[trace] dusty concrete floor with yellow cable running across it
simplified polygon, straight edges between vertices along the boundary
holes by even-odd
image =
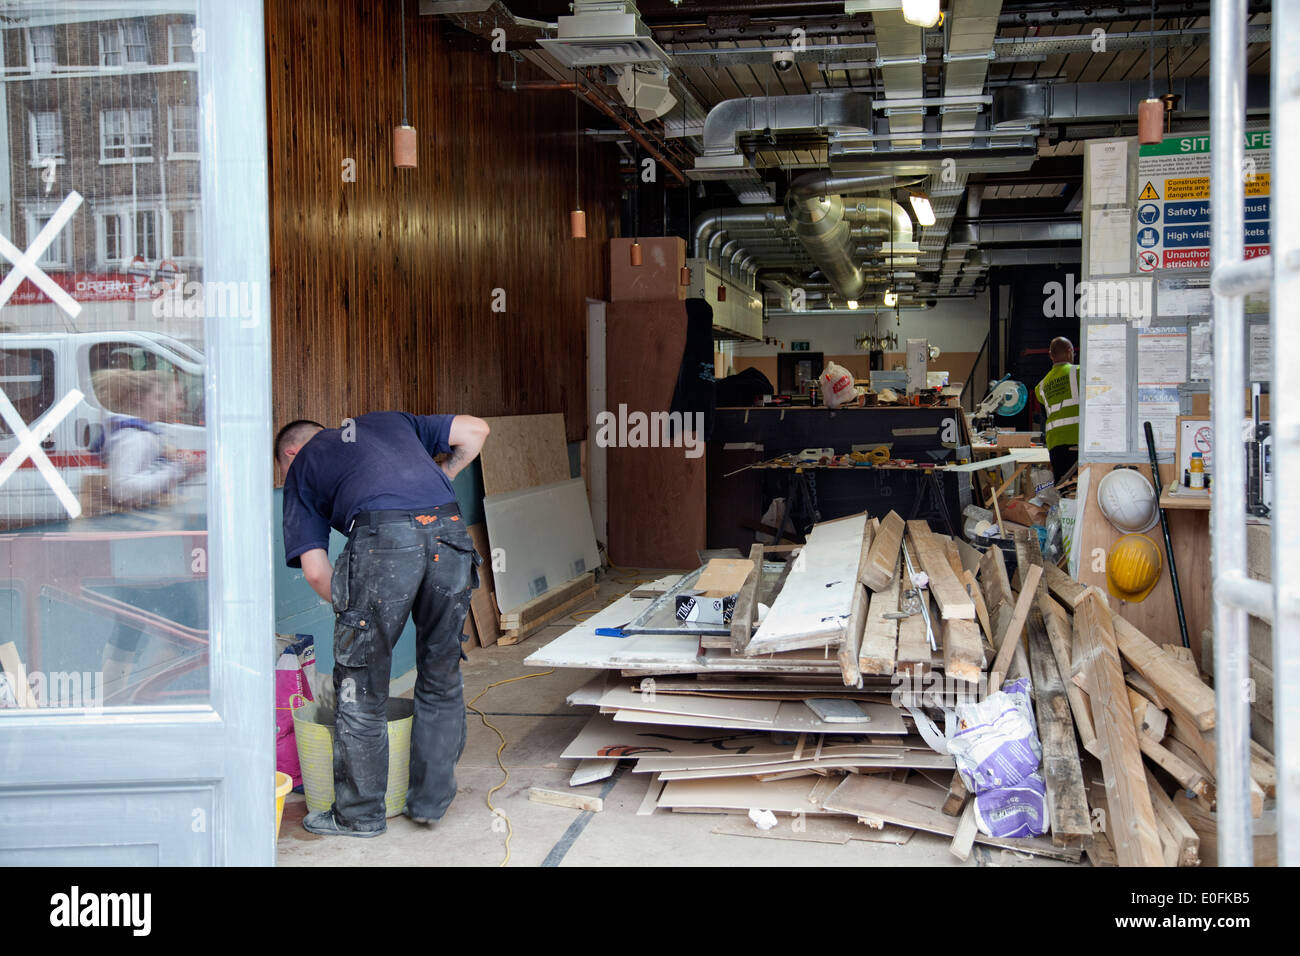
[[[629,584],[602,581],[589,607],[601,607],[630,589]],[[523,659],[554,640],[573,619],[534,633],[523,644],[476,648],[463,665],[465,700],[488,684],[533,672]],[[740,816],[673,813],[656,810],[638,817],[646,792],[646,775],[620,769],[608,780],[569,788],[576,761],[559,753],[577,735],[592,714],[590,708],[571,708],[566,696],[590,679],[593,671],[558,670],[546,676],[493,688],[478,701],[506,735],[502,761],[510,780],[493,795],[493,805],[510,817],[512,866],[961,866],[948,852],[946,838],[915,832],[902,845],[852,840],[837,845],[792,839],[789,818],[770,835],[759,835]],[[488,791],[502,782],[497,766],[500,741],[469,714],[469,739],[456,769],[459,792],[446,817],[436,826],[412,823],[406,817],[389,819],[389,830],[374,839],[328,838],[302,827],[307,804],[290,793],[280,831],[281,866],[497,866],[506,857],[506,834],[499,818],[485,803]],[[549,787],[604,797],[601,813],[584,813],[537,804],[529,787]],[[809,819],[809,838],[822,832],[823,821]],[[495,826],[494,826],[495,825]],[[714,832],[715,827],[741,834]],[[842,829],[842,827],[840,827]],[[866,827],[862,827],[866,830]],[[1069,866],[1036,857],[976,845],[968,866]],[[1086,865],[1086,864],[1084,864]]]

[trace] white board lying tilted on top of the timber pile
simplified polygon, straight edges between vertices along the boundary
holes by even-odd
[[[798,563],[754,632],[746,653],[775,650],[792,639],[829,643],[842,636],[853,602],[866,520],[866,515],[852,515],[812,528]]]

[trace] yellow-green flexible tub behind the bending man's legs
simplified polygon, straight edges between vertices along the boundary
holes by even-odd
[[[396,817],[406,806],[411,786],[411,724],[415,701],[389,697],[389,786],[384,795],[385,816]],[[303,770],[307,812],[334,805],[334,711],[312,702],[294,711],[294,737]]]

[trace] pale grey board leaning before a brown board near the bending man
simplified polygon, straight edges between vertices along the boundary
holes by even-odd
[[[488,538],[503,558],[497,604],[508,614],[601,563],[582,479],[484,498]]]

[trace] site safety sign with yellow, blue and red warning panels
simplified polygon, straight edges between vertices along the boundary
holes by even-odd
[[[1245,134],[1245,258],[1269,252],[1269,130]],[[1167,137],[1138,153],[1136,271],[1209,269],[1210,138]]]

